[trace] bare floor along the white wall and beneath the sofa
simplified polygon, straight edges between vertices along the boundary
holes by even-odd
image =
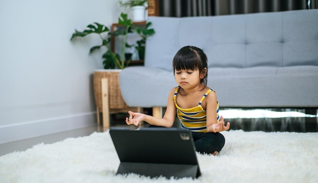
[[[231,130],[242,129],[244,131],[265,131],[265,132],[318,132],[317,109],[271,109],[249,110],[236,109],[223,110],[226,121],[231,122]],[[258,112],[258,113],[257,113]],[[246,115],[244,116],[244,114]],[[254,116],[254,114],[257,114]],[[283,115],[282,115],[283,114]],[[111,126],[126,127],[122,120],[125,114],[115,114],[111,116]],[[147,126],[147,124],[144,124]],[[177,120],[174,127],[178,126]],[[133,127],[132,127],[133,128]],[[28,138],[8,143],[0,144],[0,156],[14,151],[24,151],[39,143],[54,143],[66,138],[76,138],[88,136],[93,132],[105,132],[108,128],[101,125],[93,125],[86,128],[71,131],[59,132],[40,137]]]

